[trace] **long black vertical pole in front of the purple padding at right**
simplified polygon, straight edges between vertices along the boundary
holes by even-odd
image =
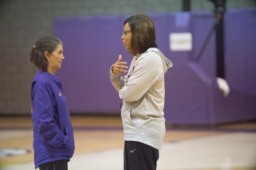
[[[224,60],[224,12],[226,0],[217,0],[215,3],[216,24],[216,73],[217,77],[225,79],[225,60]]]

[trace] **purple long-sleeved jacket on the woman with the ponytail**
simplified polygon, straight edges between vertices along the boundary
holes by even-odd
[[[70,114],[60,77],[39,70],[31,87],[34,163],[70,160],[75,150]]]

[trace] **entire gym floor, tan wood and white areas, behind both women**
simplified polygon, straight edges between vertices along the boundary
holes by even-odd
[[[123,169],[120,116],[71,116],[71,122],[75,154],[70,170]],[[33,170],[31,118],[0,117],[0,134],[0,169]],[[256,121],[167,125],[157,170],[256,170]]]

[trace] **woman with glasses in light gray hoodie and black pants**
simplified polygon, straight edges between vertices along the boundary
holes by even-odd
[[[123,100],[124,170],[156,170],[165,135],[164,73],[172,62],[157,49],[154,24],[144,14],[125,20],[122,41],[134,57],[126,71],[119,55],[110,80]]]

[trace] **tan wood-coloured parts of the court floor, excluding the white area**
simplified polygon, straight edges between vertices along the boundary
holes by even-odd
[[[122,120],[119,116],[71,116],[71,122],[73,124],[75,137],[74,156],[123,148]],[[237,130],[256,132],[256,121],[216,126],[167,125],[164,142],[200,138]],[[32,122],[29,116],[0,117],[0,134],[0,149],[23,148],[30,151],[28,154],[22,156],[0,157],[0,169],[8,165],[32,162],[34,160]],[[231,168],[229,170],[255,169],[256,167],[240,167]]]

